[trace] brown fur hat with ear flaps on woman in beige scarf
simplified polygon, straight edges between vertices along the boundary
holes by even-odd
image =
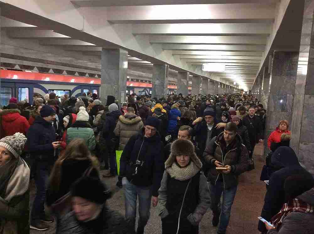
[[[176,162],[176,156],[178,155],[189,155],[190,160],[199,168],[202,168],[201,160],[196,156],[195,147],[190,140],[177,139],[171,144],[171,153],[167,161],[165,162],[165,167],[169,168]]]

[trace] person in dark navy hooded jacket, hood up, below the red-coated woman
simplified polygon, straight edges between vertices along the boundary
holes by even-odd
[[[264,199],[261,216],[269,221],[278,213],[285,202],[284,181],[293,174],[310,174],[304,169],[294,152],[287,146],[279,147],[272,155],[272,165],[278,170],[269,179],[269,186]],[[258,222],[258,230],[266,232],[265,224]]]

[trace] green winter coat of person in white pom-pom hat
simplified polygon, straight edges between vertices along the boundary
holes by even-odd
[[[67,130],[67,145],[75,138],[82,138],[89,149],[95,149],[95,134],[93,129],[89,127],[70,127]]]

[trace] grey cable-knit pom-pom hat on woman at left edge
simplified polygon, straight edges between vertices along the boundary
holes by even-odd
[[[13,136],[7,136],[0,140],[0,146],[10,151],[15,158],[19,158],[24,149],[27,138],[22,133],[15,133]]]

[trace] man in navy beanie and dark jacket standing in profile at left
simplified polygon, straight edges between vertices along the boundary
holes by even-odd
[[[46,200],[46,181],[50,169],[54,164],[54,152],[60,145],[56,140],[56,132],[52,126],[56,112],[52,107],[45,105],[40,110],[40,116],[35,119],[27,132],[27,145],[35,162],[36,196],[31,211],[30,228],[44,231],[49,228],[44,223],[51,223],[52,217],[45,214],[44,203]],[[44,223],[43,223],[44,222]]]

